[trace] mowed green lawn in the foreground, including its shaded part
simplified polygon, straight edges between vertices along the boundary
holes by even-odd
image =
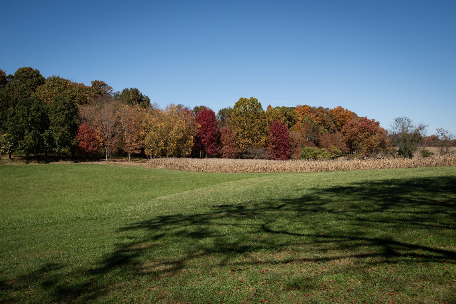
[[[456,303],[456,167],[0,167],[1,303]]]

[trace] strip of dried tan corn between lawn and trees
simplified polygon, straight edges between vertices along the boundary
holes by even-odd
[[[224,159],[224,158],[152,158],[149,167],[193,171],[193,172],[326,172],[369,169],[393,169],[416,167],[456,166],[456,156],[427,158],[386,158],[352,160],[260,160],[260,159]]]

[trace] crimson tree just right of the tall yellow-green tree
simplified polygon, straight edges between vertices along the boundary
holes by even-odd
[[[273,122],[269,127],[268,150],[272,159],[288,159],[290,157],[290,132],[280,122]]]

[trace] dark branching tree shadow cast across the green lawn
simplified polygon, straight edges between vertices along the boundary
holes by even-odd
[[[160,280],[198,263],[209,270],[347,259],[362,259],[371,266],[455,263],[455,248],[446,244],[455,236],[455,185],[455,177],[358,182],[313,188],[298,198],[213,205],[202,213],[157,216],[120,227],[116,233],[125,236],[124,242],[100,259],[98,267],[87,270],[79,283],[36,281],[55,301],[82,303],[115,292],[112,285],[122,279],[93,285],[105,276],[116,273],[120,278]],[[413,234],[416,231],[426,238],[412,242],[408,235],[419,237]],[[450,231],[447,239],[444,231]],[[433,237],[443,246],[435,246]],[[277,258],[276,253],[291,249],[299,254]],[[42,277],[46,269],[58,271],[60,267],[43,265],[17,281]],[[2,290],[24,288],[5,281],[0,285]],[[13,294],[6,294],[4,301],[17,301]]]

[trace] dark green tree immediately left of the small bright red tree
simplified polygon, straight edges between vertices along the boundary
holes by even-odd
[[[49,130],[57,160],[59,153],[71,152],[77,143],[78,116],[78,105],[73,100],[64,96],[54,97],[49,108]]]

